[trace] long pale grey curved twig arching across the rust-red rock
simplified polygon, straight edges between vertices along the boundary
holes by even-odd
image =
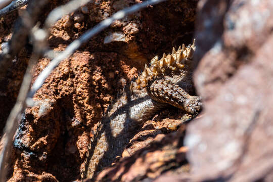
[[[36,91],[41,87],[44,80],[49,76],[49,74],[53,71],[55,67],[59,65],[59,63],[68,58],[72,53],[74,53],[82,43],[86,42],[88,39],[98,34],[108,26],[110,26],[115,20],[119,20],[124,18],[126,15],[132,14],[136,11],[139,11],[142,8],[145,8],[148,5],[158,4],[166,0],[148,0],[141,4],[136,4],[131,7],[125,8],[123,10],[118,11],[112,17],[103,20],[101,23],[96,25],[93,29],[87,30],[83,35],[81,35],[78,39],[74,40],[72,43],[68,45],[68,47],[60,53],[56,58],[54,58],[47,67],[45,67],[42,72],[38,75],[37,79],[32,85],[31,92],[28,97],[32,98]]]

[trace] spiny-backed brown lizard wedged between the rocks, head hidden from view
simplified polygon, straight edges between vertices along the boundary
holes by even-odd
[[[193,96],[195,50],[194,39],[192,45],[183,44],[177,51],[173,48],[171,54],[164,53],[160,60],[155,56],[150,66],[145,64],[144,71],[124,86],[122,94],[97,124],[80,172],[81,181],[94,178],[97,171],[113,163],[145,121],[166,106],[191,114],[201,111],[201,98]]]

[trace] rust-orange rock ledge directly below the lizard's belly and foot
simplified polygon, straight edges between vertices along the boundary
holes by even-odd
[[[146,122],[129,144],[135,153],[130,156],[128,149],[125,150],[123,158],[103,170],[95,181],[149,181],[170,169],[188,173],[187,147],[183,146],[186,125],[166,135],[173,131],[173,126],[179,125],[181,120],[173,119],[164,119],[160,125],[155,121]]]

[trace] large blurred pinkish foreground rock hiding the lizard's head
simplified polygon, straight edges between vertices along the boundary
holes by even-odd
[[[195,83],[205,111],[185,140],[193,178],[272,181],[273,2],[198,7]]]

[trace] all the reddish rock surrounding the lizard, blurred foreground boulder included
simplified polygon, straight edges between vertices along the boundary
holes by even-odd
[[[40,11],[40,24],[67,2],[50,1]],[[54,25],[49,46],[63,51],[87,29],[141,2],[93,1]],[[27,8],[0,18],[1,48]],[[175,108],[158,113],[96,180],[273,181],[272,12],[270,0],[169,0],[115,21],[64,60],[38,90],[14,138],[7,180],[79,181],[93,128],[123,85],[155,55],[195,37],[194,81],[202,113],[189,124],[182,122],[189,116]],[[31,52],[27,41],[0,79],[1,131]],[[38,61],[34,80],[49,62]]]

